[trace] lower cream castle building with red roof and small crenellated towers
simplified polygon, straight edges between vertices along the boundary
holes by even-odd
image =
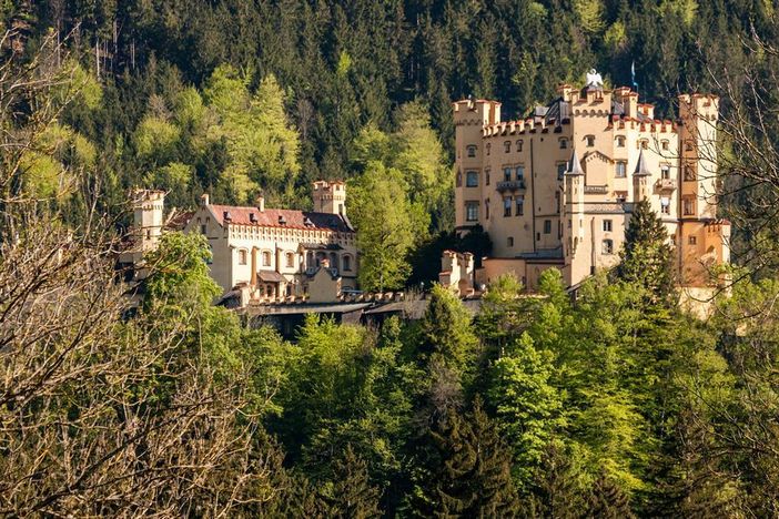
[[[244,288],[250,299],[266,302],[303,296],[334,301],[356,288],[356,233],[346,217],[343,182],[314,182],[313,212],[267,208],[262,195],[253,206],[217,205],[204,194],[196,211],[164,218],[164,195],[152,190],[132,193],[132,245],[120,263],[132,265],[139,278],[143,254],[156,247],[169,228],[208,238],[210,273],[225,293]]]

